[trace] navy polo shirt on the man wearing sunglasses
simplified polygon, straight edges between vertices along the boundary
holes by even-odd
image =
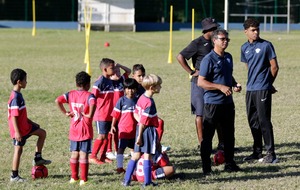
[[[225,52],[221,57],[215,51],[207,54],[201,63],[199,75],[207,81],[232,87],[233,61],[231,54]],[[204,103],[206,104],[229,104],[232,96],[226,96],[220,90],[205,90]]]

